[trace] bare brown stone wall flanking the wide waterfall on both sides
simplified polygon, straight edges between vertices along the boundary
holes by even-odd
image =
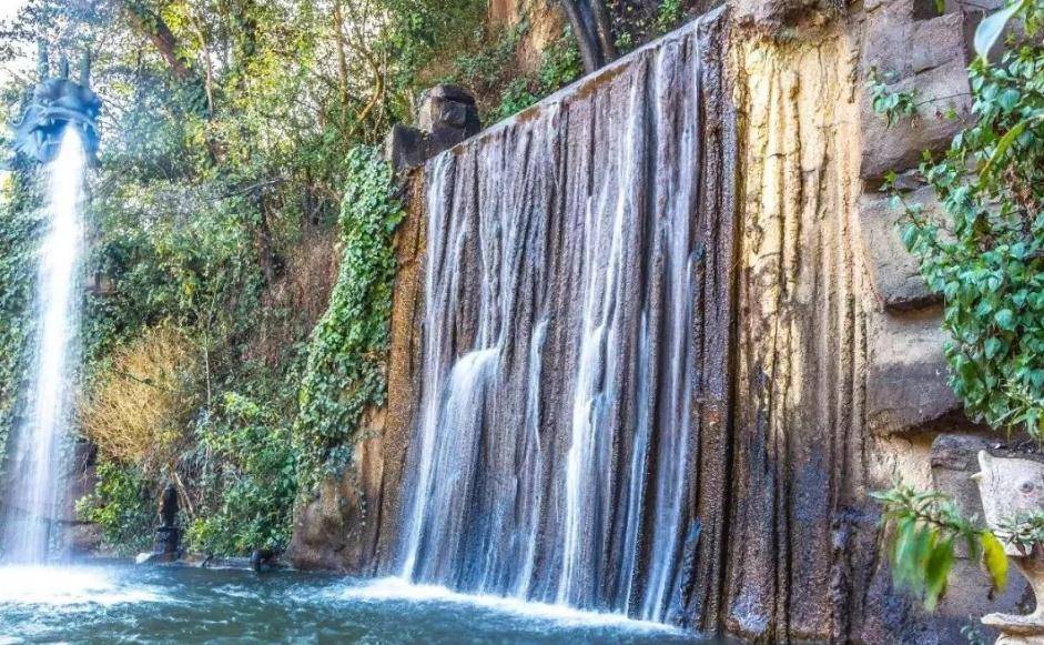
[[[1024,588],[1013,582],[991,602],[976,563],[964,558],[937,615],[923,615],[891,588],[879,512],[868,498],[901,477],[953,494],[970,513],[979,504],[966,477],[985,440],[946,384],[940,304],[879,190],[884,172],[910,170],[922,150],[945,148],[970,118],[964,65],[979,16],[960,4],[937,16],[932,7],[732,7],[723,56],[740,115],[738,342],[730,484],[716,501],[728,516],[714,521],[729,546],[720,588],[702,593],[720,595],[719,624],[748,638],[951,643],[970,615],[1011,609]],[[915,90],[914,119],[889,128],[873,113],[864,89],[871,69],[894,90]],[[911,199],[937,210],[929,189],[902,181]],[[412,190],[397,242],[389,407],[375,414],[355,478],[328,484],[301,515],[301,564],[375,573],[391,561],[418,391],[424,204],[416,177]]]

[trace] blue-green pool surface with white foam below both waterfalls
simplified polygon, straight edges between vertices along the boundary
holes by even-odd
[[[397,578],[105,564],[0,567],[0,643],[696,643],[691,634]]]

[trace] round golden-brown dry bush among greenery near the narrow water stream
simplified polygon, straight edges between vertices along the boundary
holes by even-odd
[[[145,467],[170,464],[195,406],[200,359],[181,332],[158,326],[113,352],[80,405],[80,427],[108,456]]]

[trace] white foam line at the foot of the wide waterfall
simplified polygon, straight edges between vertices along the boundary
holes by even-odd
[[[636,621],[624,614],[587,612],[567,605],[531,603],[515,597],[494,595],[470,595],[450,591],[439,585],[410,584],[401,577],[386,577],[353,584],[348,587],[331,589],[330,599],[356,602],[406,601],[414,603],[449,603],[483,607],[526,618],[549,621],[566,626],[614,627],[627,631],[658,632],[662,634],[686,634],[682,629],[652,623]]]

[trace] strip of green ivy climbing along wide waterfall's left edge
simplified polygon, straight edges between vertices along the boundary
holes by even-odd
[[[392,240],[403,215],[392,168],[375,148],[354,149],[341,204],[339,274],[307,347],[294,423],[306,488],[348,465],[363,413],[385,402],[397,268]]]

